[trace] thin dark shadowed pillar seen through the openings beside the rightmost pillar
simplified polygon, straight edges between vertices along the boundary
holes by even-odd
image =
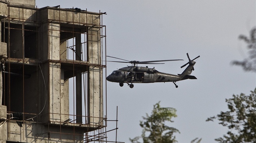
[[[76,60],[81,61],[81,34],[76,34]],[[82,123],[82,73],[76,71],[76,122]]]

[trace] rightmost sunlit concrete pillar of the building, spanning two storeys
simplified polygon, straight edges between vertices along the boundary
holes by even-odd
[[[103,118],[100,28],[88,28],[87,48],[87,61],[94,64],[89,66],[88,71],[89,124],[95,127],[102,125]]]

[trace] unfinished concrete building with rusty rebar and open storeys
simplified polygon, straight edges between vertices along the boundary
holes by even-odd
[[[102,14],[0,0],[1,143],[104,138]],[[95,130],[98,135],[88,135]]]

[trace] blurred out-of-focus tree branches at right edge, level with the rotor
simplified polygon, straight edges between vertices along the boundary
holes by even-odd
[[[240,35],[239,39],[247,43],[249,56],[243,61],[233,61],[232,64],[242,66],[245,71],[256,72],[256,28],[252,28],[250,37]]]

